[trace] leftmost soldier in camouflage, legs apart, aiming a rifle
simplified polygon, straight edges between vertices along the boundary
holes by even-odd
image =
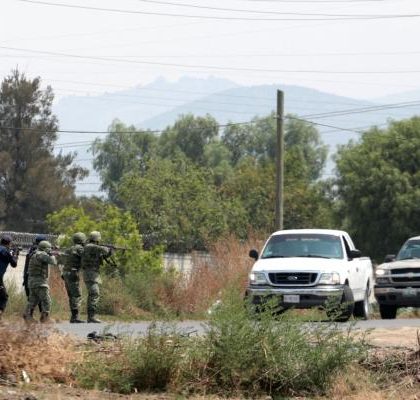
[[[39,243],[29,261],[28,286],[29,300],[23,318],[25,321],[34,321],[35,307],[41,304],[41,322],[49,322],[51,309],[50,288],[48,286],[49,265],[57,265],[57,260],[51,255],[51,243],[43,240]]]

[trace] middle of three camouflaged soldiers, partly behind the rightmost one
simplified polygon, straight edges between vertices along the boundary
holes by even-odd
[[[62,276],[66,286],[67,295],[69,296],[69,304],[71,323],[85,322],[79,319],[80,303],[82,294],[80,292],[79,271],[82,266],[82,254],[86,243],[86,235],[77,232],[73,235],[73,246],[66,250],[64,254],[64,268]]]

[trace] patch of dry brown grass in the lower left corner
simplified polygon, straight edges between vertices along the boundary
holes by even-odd
[[[72,363],[78,360],[75,343],[44,325],[0,325],[0,378],[71,382]]]

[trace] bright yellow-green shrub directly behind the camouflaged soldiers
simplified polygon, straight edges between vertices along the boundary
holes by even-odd
[[[92,204],[90,204],[92,210]],[[143,250],[143,241],[137,224],[129,212],[100,201],[94,213],[88,213],[80,205],[67,206],[48,215],[48,226],[52,232],[62,235],[60,245],[71,244],[75,232],[100,231],[103,243],[109,243],[129,250],[117,251],[113,256],[121,276],[131,272],[160,273],[163,268],[162,249],[151,252]],[[106,264],[105,272],[114,274],[115,268]]]

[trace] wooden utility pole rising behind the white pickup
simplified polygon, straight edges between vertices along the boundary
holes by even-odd
[[[276,229],[283,229],[284,188],[284,93],[277,90],[277,146],[276,146]]]

